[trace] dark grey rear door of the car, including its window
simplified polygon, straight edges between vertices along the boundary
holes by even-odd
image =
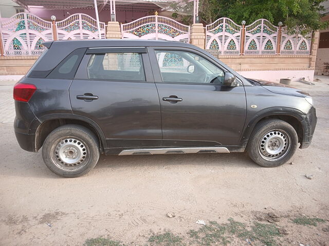
[[[160,146],[160,105],[147,49],[88,49],[69,94],[73,113],[94,120],[108,148]]]

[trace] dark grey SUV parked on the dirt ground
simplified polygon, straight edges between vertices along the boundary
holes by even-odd
[[[81,176],[100,154],[246,151],[258,165],[278,167],[312,140],[312,97],[244,78],[195,46],[105,39],[43,45],[14,86],[14,130],[24,150],[42,147],[58,175]]]

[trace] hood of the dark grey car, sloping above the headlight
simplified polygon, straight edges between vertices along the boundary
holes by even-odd
[[[287,86],[284,84],[265,81],[262,79],[252,79],[252,80],[257,81],[259,84],[261,84],[262,87],[273,93],[291,95],[291,96],[300,96],[300,97],[305,97],[309,95],[307,92],[301,91],[295,87]]]

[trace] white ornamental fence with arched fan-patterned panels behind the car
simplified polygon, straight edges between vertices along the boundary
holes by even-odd
[[[274,26],[266,19],[240,26],[223,17],[207,25],[205,31],[205,48],[215,56],[309,55],[312,44],[311,33],[306,36],[289,35],[286,28]],[[101,38],[105,38],[105,33],[105,23],[100,22]],[[15,14],[0,22],[0,34],[0,51],[5,56],[40,55],[45,49],[42,43],[53,40],[53,37],[59,40],[99,38],[96,19],[82,13],[70,15],[57,23],[29,13]],[[158,15],[121,25],[121,38],[166,39],[190,43],[190,36],[190,26]]]

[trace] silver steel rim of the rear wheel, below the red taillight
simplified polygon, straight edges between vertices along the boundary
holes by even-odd
[[[66,172],[75,172],[87,165],[90,150],[82,139],[65,136],[52,144],[50,157],[57,168]]]

